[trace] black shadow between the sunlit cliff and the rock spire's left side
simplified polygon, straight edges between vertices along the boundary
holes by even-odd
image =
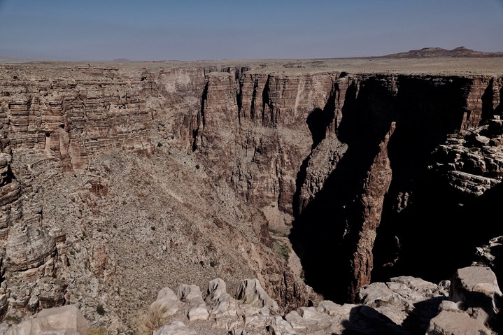
[[[290,240],[301,258],[306,283],[326,299],[337,302],[344,302],[348,297],[350,256],[355,252],[358,226],[363,223],[359,196],[365,176],[391,123],[392,113],[372,113],[373,108],[381,108],[387,101],[369,105],[369,99],[385,94],[381,91],[385,88],[380,90],[378,83],[360,88],[360,94],[356,85],[348,87],[343,117],[337,128],[339,138],[348,143],[348,150],[316,197],[302,211],[295,212],[292,224]],[[313,141],[315,138],[318,136],[313,134]],[[294,208],[301,206],[299,192],[306,178],[308,160],[309,157],[297,176]]]

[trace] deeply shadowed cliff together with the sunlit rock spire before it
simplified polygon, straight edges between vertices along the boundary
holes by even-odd
[[[446,261],[458,264],[457,254],[473,252],[474,242],[465,249],[444,241],[465,200],[449,193],[451,186],[440,188],[428,170],[437,164],[430,153],[448,134],[479,124],[486,108],[491,117],[498,113],[502,87],[492,77],[351,77],[335,112],[335,136],[302,166],[291,235],[308,282],[338,301],[355,299],[371,279],[404,271],[432,276],[434,269],[432,279],[441,280],[452,271]],[[332,267],[320,255],[336,255]]]

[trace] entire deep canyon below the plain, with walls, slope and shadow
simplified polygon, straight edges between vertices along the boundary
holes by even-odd
[[[502,69],[0,64],[2,318],[76,304],[122,334],[180,283],[257,278],[294,311],[451,278],[503,235]]]

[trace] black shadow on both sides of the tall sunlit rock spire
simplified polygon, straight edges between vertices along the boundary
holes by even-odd
[[[299,192],[310,157],[302,164],[290,241],[306,283],[325,299],[344,303],[350,298],[351,259],[364,223],[364,185],[393,121],[396,129],[388,143],[392,181],[383,199],[372,280],[398,275],[434,282],[450,279],[455,269],[469,265],[476,245],[500,230],[490,223],[489,204],[500,197],[501,187],[480,199],[467,199],[452,190],[444,176],[428,169],[434,164],[432,150],[460,129],[466,111],[462,92],[469,81],[448,79],[399,76],[396,90],[385,76],[353,83],[334,129],[348,150],[305,208],[300,208]],[[309,126],[313,143],[320,138],[313,129],[325,127],[323,122]]]

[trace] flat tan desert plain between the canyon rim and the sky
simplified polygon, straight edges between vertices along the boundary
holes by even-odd
[[[10,61],[10,63],[13,63]],[[16,62],[19,64],[19,62]],[[50,64],[51,66],[103,66],[120,68],[170,68],[179,66],[204,66],[211,70],[243,66],[254,72],[313,73],[325,71],[345,71],[348,73],[399,73],[399,74],[447,74],[463,76],[482,74],[499,76],[503,74],[503,57],[427,57],[427,58],[334,58],[334,59],[224,59],[201,60],[197,62],[29,62],[29,64]],[[0,64],[9,64],[0,59]]]

